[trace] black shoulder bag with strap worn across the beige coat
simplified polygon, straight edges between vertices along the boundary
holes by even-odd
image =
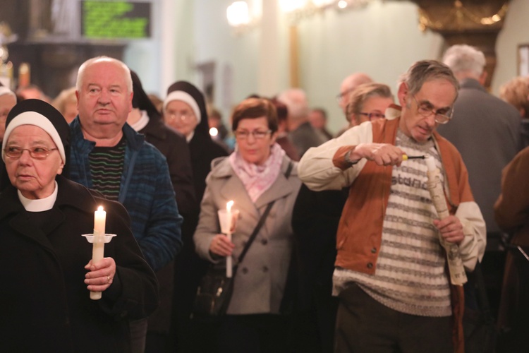
[[[288,179],[292,172],[292,162],[288,164],[286,169],[285,177]],[[275,201],[272,201],[267,205],[265,212],[262,213],[259,222],[253,229],[250,239],[246,243],[241,256],[238,257],[237,264],[233,266],[233,274],[231,277],[226,277],[225,268],[216,268],[213,264],[207,269],[207,273],[200,280],[200,285],[197,289],[197,295],[195,296],[195,302],[193,303],[193,316],[221,316],[226,313],[231,300],[231,294],[233,294],[233,284],[237,273],[238,264],[243,262],[250,245],[253,243],[257,233],[259,233],[262,225],[265,224],[265,220],[270,213],[270,209],[274,205]]]

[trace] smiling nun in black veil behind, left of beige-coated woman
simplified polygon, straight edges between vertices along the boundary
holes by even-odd
[[[209,135],[207,110],[204,95],[195,85],[178,81],[169,86],[164,100],[163,115],[165,124],[176,129],[186,138],[193,168],[193,186],[198,203],[206,189],[206,177],[211,163],[217,157],[228,152]],[[186,234],[195,232],[198,222],[198,210],[188,217]],[[190,227],[188,229],[188,227]],[[202,344],[207,344],[202,336],[211,328],[205,323],[190,321],[193,300],[200,278],[207,269],[207,261],[195,253],[195,244],[188,239],[176,261],[174,284],[177,289],[173,296],[173,328],[171,335],[176,342],[177,352],[204,352]]]

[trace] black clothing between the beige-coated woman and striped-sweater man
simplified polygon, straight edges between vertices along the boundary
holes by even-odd
[[[348,191],[311,191],[303,184],[294,204],[295,258],[288,286],[293,304],[290,334],[298,352],[333,352],[338,299],[332,297],[332,273]]]

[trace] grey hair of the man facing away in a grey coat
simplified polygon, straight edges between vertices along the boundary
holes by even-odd
[[[443,62],[454,73],[466,72],[479,77],[485,68],[485,54],[476,47],[466,44],[456,44],[449,47],[443,56]]]

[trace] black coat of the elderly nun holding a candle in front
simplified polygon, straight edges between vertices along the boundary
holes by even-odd
[[[57,177],[54,207],[28,213],[13,187],[0,194],[0,347],[4,352],[130,352],[129,319],[158,305],[154,273],[119,203]],[[116,261],[112,285],[99,301],[84,283],[98,205],[107,211],[105,256]]]

